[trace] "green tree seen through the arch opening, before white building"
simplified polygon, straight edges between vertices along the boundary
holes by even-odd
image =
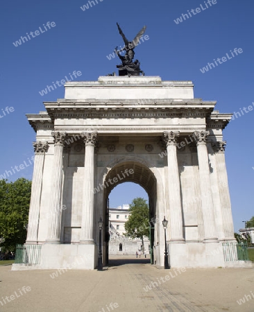
[[[126,236],[141,239],[144,249],[144,236],[149,237],[149,206],[144,198],[134,198],[130,204],[130,216],[125,223]]]

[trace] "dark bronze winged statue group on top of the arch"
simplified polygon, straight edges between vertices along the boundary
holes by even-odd
[[[142,76],[144,76],[144,71],[140,70],[139,68],[139,61],[135,60],[133,62],[133,58],[135,55],[134,49],[139,44],[139,39],[142,37],[144,32],[146,31],[146,26],[142,28],[139,33],[137,33],[136,37],[133,39],[133,41],[128,41],[126,36],[124,35],[123,31],[121,30],[119,24],[117,23],[117,27],[119,30],[119,34],[124,40],[124,48],[121,50],[117,50],[117,47],[115,48],[115,53],[120,58],[122,64],[117,65],[117,68],[119,68],[119,76],[139,76],[140,73],[142,73]],[[126,51],[126,54],[124,56],[120,55],[119,53],[121,51]]]

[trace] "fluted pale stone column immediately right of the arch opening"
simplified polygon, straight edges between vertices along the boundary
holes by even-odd
[[[180,132],[163,132],[167,144],[168,193],[171,242],[183,243],[183,216],[180,198],[180,179],[176,155],[176,138]]]

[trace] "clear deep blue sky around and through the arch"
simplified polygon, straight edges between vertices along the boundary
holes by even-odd
[[[130,40],[142,26],[147,26],[149,40],[135,49],[135,58],[146,76],[192,80],[195,97],[216,100],[220,112],[238,112],[254,102],[254,1],[218,0],[209,8],[203,0],[97,2],[91,7],[87,0],[1,1],[0,175],[24,161],[29,164],[28,159],[33,156],[35,132],[25,114],[44,110],[43,101],[64,97],[64,87],[44,96],[39,91],[69,77],[74,70],[82,72],[77,80],[97,80],[116,71],[119,60],[108,60],[106,56],[123,44],[117,21]],[[89,8],[81,10],[87,3]],[[205,10],[201,10],[201,4]],[[174,19],[196,8],[200,12],[195,11],[196,15],[176,24]],[[48,21],[56,26],[44,31],[43,24]],[[40,33],[40,28],[44,33]],[[35,31],[39,35],[35,36]],[[17,47],[12,44],[31,32],[35,37],[31,35],[28,42],[24,39]],[[243,53],[201,73],[208,62],[235,48],[241,48]],[[13,107],[14,111],[4,116],[2,110],[6,107]],[[235,230],[242,227],[242,220],[254,215],[253,119],[254,110],[230,122],[224,130]],[[30,165],[9,180],[31,179],[32,173]],[[124,196],[126,193],[128,196]],[[136,193],[138,196],[139,191]],[[136,196],[133,191],[119,186],[115,199],[111,199],[112,206],[131,202],[133,195]]]

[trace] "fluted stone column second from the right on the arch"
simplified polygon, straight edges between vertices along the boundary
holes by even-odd
[[[203,211],[203,225],[205,232],[205,243],[217,241],[217,231],[214,220],[214,205],[212,201],[212,189],[210,182],[210,168],[208,164],[208,148],[206,139],[208,131],[196,131],[194,137],[198,150],[198,170],[201,184],[201,202]]]

